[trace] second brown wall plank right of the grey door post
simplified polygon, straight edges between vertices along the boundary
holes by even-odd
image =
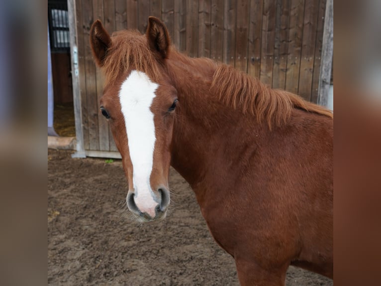
[[[96,70],[90,47],[90,27],[94,22],[93,1],[83,0],[84,42],[85,42],[85,70],[86,70],[86,96],[88,106],[89,149],[99,150],[98,133],[98,105],[96,96]]]

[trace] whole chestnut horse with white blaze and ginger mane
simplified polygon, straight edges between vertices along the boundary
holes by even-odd
[[[148,20],[145,35],[110,37],[99,20],[90,31],[129,210],[165,218],[172,165],[241,285],[285,285],[289,265],[333,278],[332,113],[179,53],[166,26]]]

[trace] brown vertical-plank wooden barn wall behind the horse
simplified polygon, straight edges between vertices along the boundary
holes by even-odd
[[[90,27],[147,28],[161,18],[172,42],[191,57],[209,57],[317,101],[326,0],[76,0],[84,147],[117,151],[99,113],[102,75],[93,62]]]

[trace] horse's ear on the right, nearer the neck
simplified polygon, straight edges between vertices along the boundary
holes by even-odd
[[[164,23],[156,17],[148,17],[146,36],[151,50],[158,52],[165,59],[168,55],[171,41]]]

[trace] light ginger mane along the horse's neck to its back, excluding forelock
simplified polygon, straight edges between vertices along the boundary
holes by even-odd
[[[271,128],[280,126],[291,117],[294,108],[333,118],[331,111],[307,102],[301,97],[279,89],[272,89],[258,79],[221,64],[214,72],[211,92],[234,109],[256,116],[259,122],[267,121]]]

